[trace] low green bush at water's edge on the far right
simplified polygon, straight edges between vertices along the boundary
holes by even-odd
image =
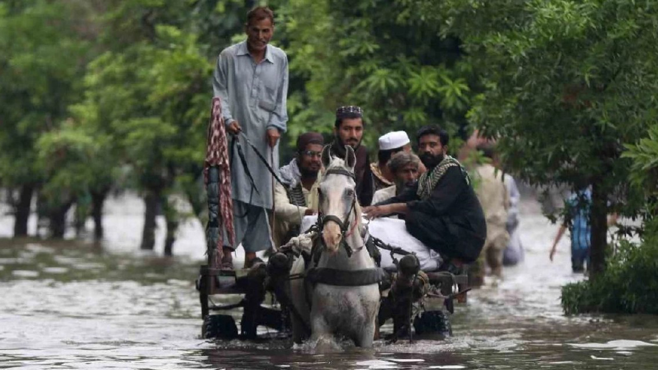
[[[641,244],[620,242],[603,274],[563,286],[562,307],[567,315],[658,314],[658,234]]]

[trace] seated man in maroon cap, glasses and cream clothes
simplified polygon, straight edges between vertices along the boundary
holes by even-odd
[[[322,167],[323,145],[322,135],[316,132],[302,134],[297,138],[295,158],[279,170],[286,186],[278,183],[274,186],[272,237],[277,246],[299,234],[301,219],[305,215],[317,212],[318,172]]]

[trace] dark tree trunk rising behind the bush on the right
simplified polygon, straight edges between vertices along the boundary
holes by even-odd
[[[601,186],[601,181],[592,184],[592,225],[590,245],[590,276],[596,277],[605,270],[605,253],[607,251],[607,194]]]

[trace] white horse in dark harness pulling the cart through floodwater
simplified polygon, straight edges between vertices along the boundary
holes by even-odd
[[[343,336],[357,346],[370,347],[374,340],[380,304],[375,276],[381,274],[365,248],[361,207],[355,192],[356,157],[351,147],[346,149],[345,159],[330,157],[328,147],[322,151],[324,174],[318,214],[321,236],[315,238],[319,245],[314,248],[320,253],[317,265],[316,255],[307,266],[298,258],[290,271],[300,274],[306,268],[307,276],[290,281],[295,342],[309,334],[316,343]]]

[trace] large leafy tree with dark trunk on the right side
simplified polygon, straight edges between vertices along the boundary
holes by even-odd
[[[531,184],[592,186],[592,273],[605,267],[606,215],[635,215],[622,144],[655,120],[658,4],[653,1],[419,1],[464,41],[484,91],[470,120],[497,138]],[[440,11],[430,9],[440,7]],[[637,201],[640,199],[640,201]]]

